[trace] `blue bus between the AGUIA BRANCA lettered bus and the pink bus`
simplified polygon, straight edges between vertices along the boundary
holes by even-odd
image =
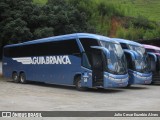
[[[152,72],[149,56],[153,58],[155,56],[147,54],[143,45],[137,42],[119,38],[113,38],[113,40],[121,44],[126,55],[129,74],[128,87],[131,84],[150,84],[152,82]]]

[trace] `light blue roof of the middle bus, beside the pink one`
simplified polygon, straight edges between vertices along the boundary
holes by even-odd
[[[129,45],[135,45],[135,46],[143,47],[143,45],[141,45],[140,43],[134,42],[134,41],[131,41],[131,40],[125,40],[125,39],[121,39],[121,38],[112,38],[112,39],[119,42],[119,43],[126,43],[126,44],[129,44]]]

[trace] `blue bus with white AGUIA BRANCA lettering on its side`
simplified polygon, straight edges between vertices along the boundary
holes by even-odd
[[[75,85],[78,90],[128,84],[120,44],[101,35],[61,35],[7,45],[3,51],[3,76],[15,82]]]

